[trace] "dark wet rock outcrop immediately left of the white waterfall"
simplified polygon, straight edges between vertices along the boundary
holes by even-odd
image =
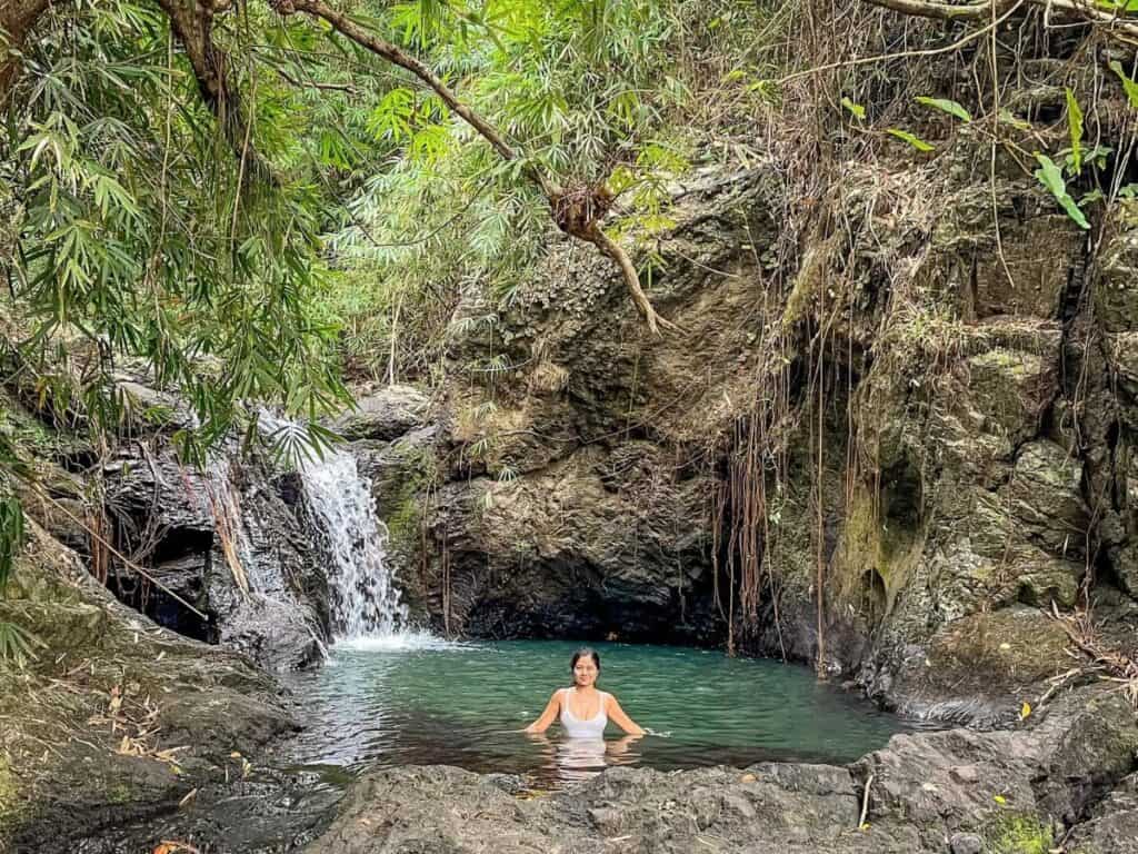
[[[206,473],[157,450],[125,449],[102,470],[118,550],[174,596],[109,557],[109,586],[158,623],[223,643],[269,668],[320,656],[328,637],[328,581],[296,475],[273,474],[236,452]]]

